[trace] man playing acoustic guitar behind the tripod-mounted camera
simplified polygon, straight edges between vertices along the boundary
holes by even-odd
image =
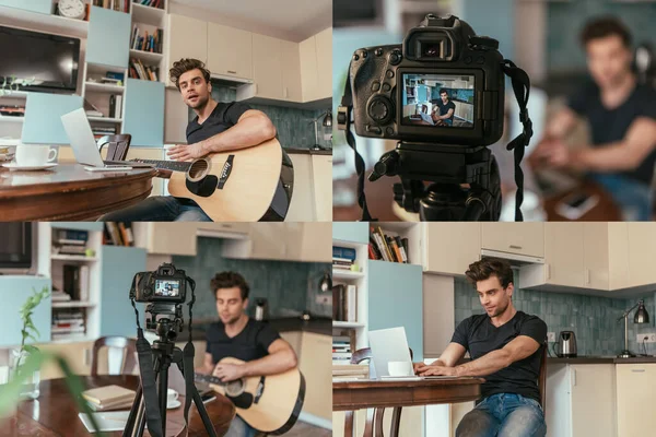
[[[249,287],[241,274],[218,273],[211,286],[221,320],[208,330],[204,363],[196,369],[196,379],[209,381],[235,404],[237,415],[227,437],[288,430],[298,416],[305,392],[296,354],[268,323],[246,315]],[[239,387],[230,383],[239,380],[247,393],[237,395]]]

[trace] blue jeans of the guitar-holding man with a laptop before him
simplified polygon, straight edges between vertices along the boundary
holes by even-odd
[[[211,222],[194,202],[181,201],[173,196],[153,196],[136,205],[114,211],[98,218],[99,222]]]

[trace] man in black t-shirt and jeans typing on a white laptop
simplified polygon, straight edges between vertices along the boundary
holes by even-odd
[[[414,370],[421,376],[484,377],[481,400],[462,417],[456,437],[543,437],[537,381],[547,324],[515,309],[513,270],[506,261],[483,259],[465,274],[485,314],[462,320],[440,358],[431,365],[415,363]],[[471,361],[456,365],[465,352]]]

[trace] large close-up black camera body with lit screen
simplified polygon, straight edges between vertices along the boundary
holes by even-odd
[[[402,45],[356,50],[350,67],[355,132],[408,143],[493,144],[504,115],[497,48],[457,16],[429,14]],[[338,122],[345,125],[341,113]]]

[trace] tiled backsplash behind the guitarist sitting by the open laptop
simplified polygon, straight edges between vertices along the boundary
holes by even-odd
[[[234,102],[237,98],[237,92],[227,86],[212,86],[212,97],[216,102]],[[278,139],[283,147],[311,149],[315,144],[315,130],[312,120],[324,114],[326,109],[306,110],[288,108],[281,106],[248,104],[253,109],[265,113],[278,130]],[[196,114],[189,109],[189,120],[194,119]],[[324,133],[330,133],[332,128],[321,126],[321,117],[318,121],[319,145],[323,147],[332,147],[330,140],[324,140]]]

